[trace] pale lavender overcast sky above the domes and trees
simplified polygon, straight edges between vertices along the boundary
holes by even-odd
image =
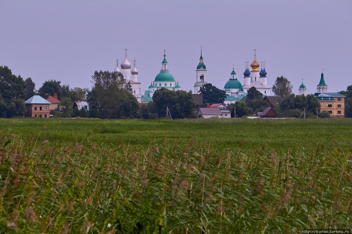
[[[127,48],[144,94],[166,49],[170,73],[193,91],[201,45],[207,82],[218,88],[232,64],[243,84],[257,49],[269,86],[283,75],[298,94],[303,78],[314,93],[323,68],[328,92],[338,92],[352,85],[351,10],[351,0],[1,0],[0,65],[37,89],[50,79],[91,88],[94,71],[114,71]]]

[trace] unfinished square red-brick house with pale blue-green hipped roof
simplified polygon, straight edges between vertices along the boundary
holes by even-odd
[[[27,108],[25,117],[49,118],[49,105],[51,103],[46,101],[41,96],[34,95],[24,103]]]

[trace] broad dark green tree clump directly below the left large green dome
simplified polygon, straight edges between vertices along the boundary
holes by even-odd
[[[165,116],[166,107],[168,107],[173,119],[191,118],[196,105],[192,93],[183,90],[175,92],[166,88],[157,89],[154,92],[153,102],[159,117]]]

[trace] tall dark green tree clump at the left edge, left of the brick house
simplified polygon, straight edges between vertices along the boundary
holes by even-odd
[[[7,66],[0,66],[0,118],[24,115],[25,87],[20,75],[13,75]]]

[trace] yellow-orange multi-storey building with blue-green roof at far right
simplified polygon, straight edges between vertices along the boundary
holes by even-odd
[[[345,96],[339,93],[320,93],[316,95],[321,111],[326,110],[331,117],[345,117]]]

